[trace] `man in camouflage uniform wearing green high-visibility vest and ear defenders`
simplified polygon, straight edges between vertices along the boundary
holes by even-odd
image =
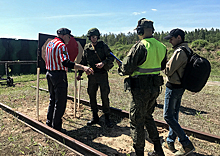
[[[153,22],[142,18],[138,21],[138,41],[124,58],[119,61],[119,75],[129,75],[125,79],[125,90],[131,90],[130,131],[137,156],[144,156],[145,129],[154,144],[154,151],[148,155],[164,156],[159,133],[152,113],[159,96],[163,77],[160,71],[166,66],[166,47],[153,38]]]

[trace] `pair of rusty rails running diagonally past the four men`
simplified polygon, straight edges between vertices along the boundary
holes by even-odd
[[[34,86],[32,86],[32,87],[36,88]],[[43,89],[43,88],[40,88],[39,90],[48,92],[48,90]],[[68,99],[74,100],[74,97],[68,96]],[[87,100],[81,99],[80,103],[82,103],[83,105],[89,106],[89,101],[87,101]],[[98,104],[98,107],[99,107],[99,109],[102,109],[102,106],[100,104]],[[106,154],[101,153],[100,151],[93,149],[92,147],[89,147],[88,145],[85,145],[84,143],[82,143],[76,139],[73,139],[72,137],[69,137],[59,131],[56,131],[55,129],[50,128],[50,127],[46,126],[45,124],[43,124],[39,121],[36,121],[36,120],[18,112],[18,111],[14,111],[12,108],[8,107],[7,105],[0,103],[0,108],[2,108],[6,112],[12,114],[15,118],[21,120],[26,125],[30,126],[32,129],[34,129],[44,135],[47,135],[50,138],[53,138],[53,140],[56,140],[57,142],[59,142],[63,146],[74,151],[77,155],[106,156]],[[113,107],[111,107],[110,109],[113,114],[116,114],[120,117],[126,117],[126,118],[129,117],[129,113],[127,111],[123,111],[123,110],[113,108]],[[155,122],[158,127],[163,127],[163,128],[168,129],[168,125],[165,122],[159,121],[159,120],[155,120]],[[200,132],[200,131],[189,129],[186,127],[182,127],[182,128],[186,132],[187,135],[193,135],[196,138],[206,140],[209,142],[220,143],[219,136]]]

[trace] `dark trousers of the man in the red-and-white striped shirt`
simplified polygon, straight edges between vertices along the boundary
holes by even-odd
[[[66,71],[47,71],[46,78],[50,92],[46,124],[56,130],[60,130],[67,102],[68,82]]]

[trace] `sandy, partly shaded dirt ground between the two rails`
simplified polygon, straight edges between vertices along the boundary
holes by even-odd
[[[48,102],[42,102],[41,100],[39,107],[39,121],[45,123],[46,122],[46,114],[47,114],[47,106]],[[104,125],[104,117],[102,116],[102,112],[99,111],[100,116],[100,124],[96,124],[94,126],[86,126],[87,121],[91,118],[90,107],[80,104],[80,107],[77,108],[76,117],[74,117],[74,102],[68,100],[67,108],[65,114],[63,116],[63,128],[65,128],[68,132],[67,135],[77,139],[109,156],[115,155],[135,155],[134,149],[132,148],[132,139],[130,137],[129,131],[129,120],[127,118],[120,118],[112,115],[111,119],[114,122],[113,128],[107,128]],[[77,106],[78,107],[78,106]],[[35,108],[26,108],[20,107],[17,111],[26,114],[37,120],[36,116],[36,107]],[[162,127],[158,127],[158,131],[160,136],[165,139],[168,135],[168,131],[163,129]],[[191,140],[195,140],[190,136]],[[176,149],[180,149],[181,145],[178,141],[175,144]],[[153,144],[148,141],[146,137],[145,141],[145,155],[148,152],[153,150]],[[172,152],[163,148],[165,155],[172,156],[174,155]],[[191,155],[203,155],[208,154],[208,151],[199,151],[200,154],[194,152]],[[201,154],[203,153],[203,154]]]

